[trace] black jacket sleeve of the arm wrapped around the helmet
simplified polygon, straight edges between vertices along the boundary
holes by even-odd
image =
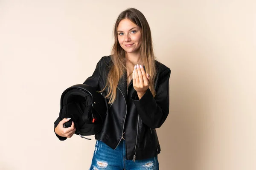
[[[97,89],[99,88],[99,78],[100,78],[100,68],[101,68],[101,62],[102,62],[102,59],[103,57],[99,60],[99,62],[97,63],[96,65],[96,68],[93,72],[93,75],[88,77],[83,84],[86,84],[86,85],[90,85],[92,87],[96,87]],[[58,119],[56,119],[56,121],[54,122],[54,129],[55,127],[57,127],[57,125],[59,124],[59,122],[61,121],[60,117],[58,117]],[[55,131],[54,131],[55,133]],[[66,140],[67,138],[66,137],[62,137],[62,136],[59,136],[55,133],[55,135],[58,137],[58,139],[60,139],[61,141],[64,141]]]

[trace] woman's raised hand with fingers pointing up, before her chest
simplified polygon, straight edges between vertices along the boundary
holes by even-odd
[[[139,99],[146,93],[152,81],[149,74],[145,73],[142,65],[135,65],[132,73],[132,82],[134,90],[137,91]]]

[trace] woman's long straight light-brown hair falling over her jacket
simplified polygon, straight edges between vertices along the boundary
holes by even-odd
[[[142,43],[140,46],[140,56],[141,61],[145,65],[146,72],[151,76],[152,82],[149,86],[149,89],[153,96],[155,96],[154,90],[154,78],[156,76],[156,67],[155,67],[155,57],[153,52],[153,45],[152,45],[152,38],[151,38],[151,31],[148,25],[148,22],[145,16],[135,8],[128,8],[125,11],[122,11],[121,14],[117,17],[113,34],[115,42],[112,47],[112,54],[111,60],[113,65],[108,73],[107,84],[105,88],[102,90],[104,91],[108,88],[108,94],[105,96],[109,99],[109,104],[112,104],[116,99],[116,88],[119,82],[119,79],[124,75],[126,71],[126,58],[125,58],[125,51],[122,49],[118,42],[118,35],[117,35],[117,27],[121,20],[129,19],[131,22],[136,24],[140,27],[141,34],[142,34]]]

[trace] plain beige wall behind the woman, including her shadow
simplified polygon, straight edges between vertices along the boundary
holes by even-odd
[[[0,170],[89,168],[95,140],[61,142],[53,122],[128,7],[172,70],[160,169],[256,169],[255,0],[0,0]]]

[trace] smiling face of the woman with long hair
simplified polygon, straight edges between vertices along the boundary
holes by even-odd
[[[141,45],[140,27],[125,18],[117,27],[118,42],[127,53],[137,53]]]

